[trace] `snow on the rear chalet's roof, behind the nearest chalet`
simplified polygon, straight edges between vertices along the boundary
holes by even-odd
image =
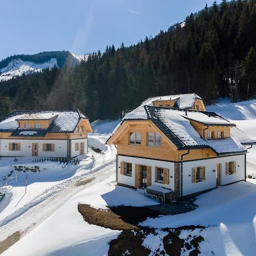
[[[192,108],[197,98],[200,100],[202,99],[200,96],[198,96],[195,93],[151,97],[151,98],[148,98],[146,101],[143,101],[142,105],[153,105],[153,102],[155,101],[177,100],[176,107],[181,109],[186,109],[186,108]]]

